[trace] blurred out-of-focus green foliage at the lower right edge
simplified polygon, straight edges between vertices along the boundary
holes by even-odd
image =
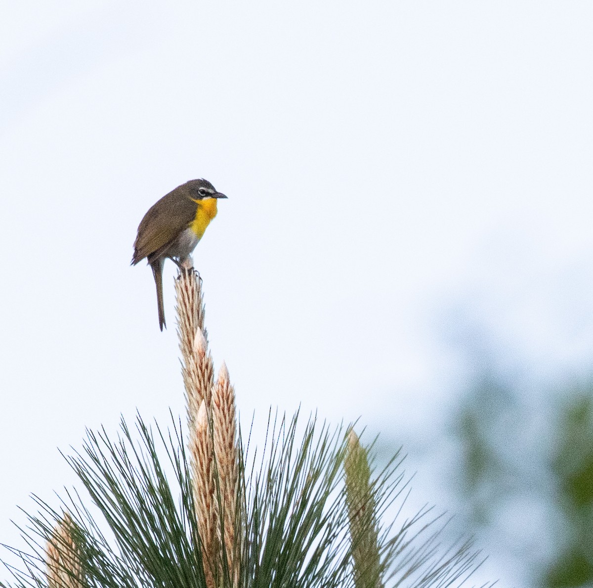
[[[534,586],[593,586],[593,385],[557,388],[546,403],[493,374],[471,387],[451,419],[461,447],[457,489],[471,523],[491,535],[514,501],[543,506],[547,529],[513,529],[519,544],[521,533],[525,545],[548,535],[551,556],[527,562]]]

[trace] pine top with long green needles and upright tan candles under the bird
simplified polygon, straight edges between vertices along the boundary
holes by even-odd
[[[226,367],[213,377],[195,272],[176,288],[187,436],[173,415],[167,429],[137,415],[116,438],[87,431],[65,456],[81,490],[57,509],[35,497],[0,588],[461,586],[478,552],[444,548],[430,508],[398,520],[410,491],[399,453],[377,472],[352,428],[302,427],[298,414],[270,415],[261,454],[244,447]]]

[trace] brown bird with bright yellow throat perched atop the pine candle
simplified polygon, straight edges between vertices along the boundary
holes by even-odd
[[[162,267],[165,259],[181,267],[216,216],[220,198],[227,198],[208,180],[189,180],[148,209],[138,225],[132,263],[148,259],[157,285],[158,324],[166,327],[162,302]]]

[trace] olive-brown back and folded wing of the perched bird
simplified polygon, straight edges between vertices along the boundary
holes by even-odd
[[[193,221],[196,208],[183,186],[176,187],[151,206],[138,226],[132,265],[175,239]]]

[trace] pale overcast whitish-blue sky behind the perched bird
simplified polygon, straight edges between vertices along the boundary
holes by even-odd
[[[194,177],[229,196],[194,259],[244,421],[438,446],[470,331],[588,371],[592,49],[591,2],[5,3],[0,541],[72,482],[56,447],[183,413],[173,263],[160,333],[129,261]]]

